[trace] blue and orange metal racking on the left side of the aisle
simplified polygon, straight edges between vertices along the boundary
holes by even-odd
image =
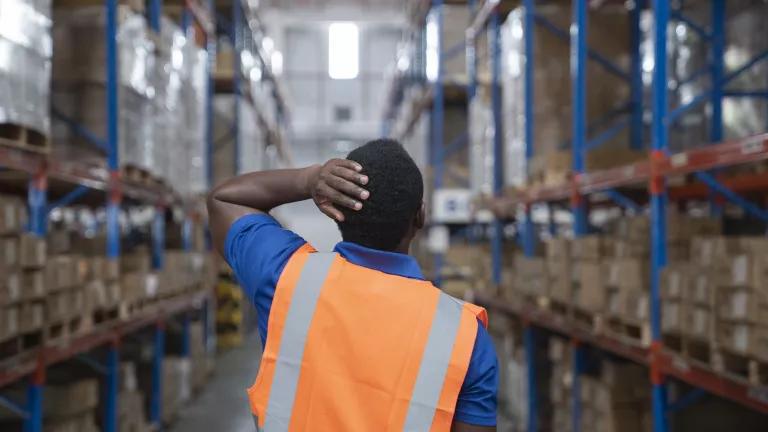
[[[168,3],[171,3],[168,0]],[[205,37],[205,48],[208,51],[207,63],[207,97],[206,107],[206,175],[208,185],[213,183],[213,94],[216,82],[213,79],[213,71],[216,65],[216,19],[213,0],[178,0],[173,2],[184,7],[182,14],[182,27],[195,25]],[[233,2],[233,12],[242,12],[240,1]],[[193,209],[193,203],[187,202],[175,191],[161,185],[136,184],[121,177],[118,152],[118,50],[117,50],[117,12],[118,0],[104,0],[106,10],[106,100],[105,111],[107,113],[107,136],[99,138],[89,133],[85,127],[74,124],[68,119],[60,119],[70,124],[79,133],[90,137],[93,141],[106,150],[106,163],[104,166],[94,166],[79,160],[60,160],[48,158],[43,153],[29,152],[24,149],[11,146],[0,146],[0,168],[21,174],[28,178],[27,184],[11,182],[6,185],[9,190],[28,190],[28,203],[30,209],[29,231],[37,236],[44,237],[47,233],[47,218],[49,212],[57,207],[73,204],[76,201],[88,198],[89,203],[98,204],[105,202],[107,209],[107,257],[110,260],[120,258],[120,227],[119,213],[124,201],[154,205],[155,218],[152,224],[152,257],[153,268],[163,268],[163,249],[165,243],[165,213],[167,209],[181,209],[184,213],[182,225],[182,245],[185,250],[192,249],[192,231],[195,223],[201,223],[201,215]],[[242,6],[244,7],[244,6]],[[147,20],[150,27],[159,31],[161,15],[163,11],[162,0],[149,0],[147,5]],[[249,23],[254,22],[253,17]],[[241,28],[240,31],[261,32],[262,29]],[[272,77],[274,79],[274,77]],[[278,119],[285,119],[287,109],[282,92],[275,92],[274,97],[279,101]],[[56,115],[56,113],[54,113]],[[60,115],[58,117],[61,117]],[[280,120],[284,125],[284,120]],[[264,126],[264,124],[262,124]],[[280,154],[290,157],[287,143],[281,138],[281,134],[274,132],[278,137],[277,145]],[[287,156],[286,156],[287,155]],[[4,182],[6,182],[4,180]],[[56,201],[49,203],[49,198]],[[211,287],[212,288],[212,287]],[[190,313],[199,311],[203,321],[203,343],[212,347],[209,343],[212,330],[212,319],[209,316],[211,290],[205,289],[190,294],[184,298],[170,298],[160,300],[148,306],[143,311],[132,315],[128,320],[111,322],[97,326],[86,334],[72,337],[66,344],[44,344],[31,352],[22,352],[15,357],[3,360],[0,363],[0,393],[3,387],[28,380],[26,400],[22,403],[3,397],[0,394],[0,406],[18,414],[24,420],[26,432],[41,432],[43,427],[43,398],[46,385],[46,369],[56,363],[71,359],[82,359],[93,365],[94,369],[105,377],[106,388],[105,412],[103,413],[104,430],[113,432],[117,430],[118,415],[118,382],[120,365],[121,340],[129,335],[146,328],[151,328],[153,336],[153,360],[152,360],[152,393],[150,398],[150,421],[156,430],[162,428],[162,362],[165,355],[165,327],[169,320],[180,319],[182,334],[182,356],[190,355]],[[88,356],[88,352],[97,348],[106,347],[105,361],[100,363]]]

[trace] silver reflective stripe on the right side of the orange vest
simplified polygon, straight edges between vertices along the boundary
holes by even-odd
[[[448,294],[440,293],[405,417],[405,432],[424,432],[432,427],[461,323],[461,310],[461,303]]]

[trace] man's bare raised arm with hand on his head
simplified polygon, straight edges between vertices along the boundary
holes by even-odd
[[[368,178],[362,167],[346,159],[332,159],[307,168],[261,171],[234,177],[208,195],[208,217],[214,246],[224,253],[232,224],[248,214],[269,213],[275,207],[314,199],[320,211],[344,220],[337,205],[359,210],[368,198]]]

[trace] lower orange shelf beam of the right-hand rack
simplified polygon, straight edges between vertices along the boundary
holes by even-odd
[[[481,306],[518,317],[523,323],[548,329],[636,363],[648,366],[654,361],[655,356],[657,365],[666,375],[768,414],[768,388],[753,386],[746,381],[724,376],[709,367],[692,363],[671,352],[662,351],[653,354],[647,348],[629,345],[608,336],[595,335],[578,329],[571,321],[547,311],[520,308],[509,301],[481,293],[472,293],[471,296],[470,301]]]

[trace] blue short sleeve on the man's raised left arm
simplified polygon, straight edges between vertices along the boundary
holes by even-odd
[[[259,335],[267,338],[267,323],[275,287],[288,259],[306,241],[267,214],[251,214],[229,228],[224,257],[257,312]]]

